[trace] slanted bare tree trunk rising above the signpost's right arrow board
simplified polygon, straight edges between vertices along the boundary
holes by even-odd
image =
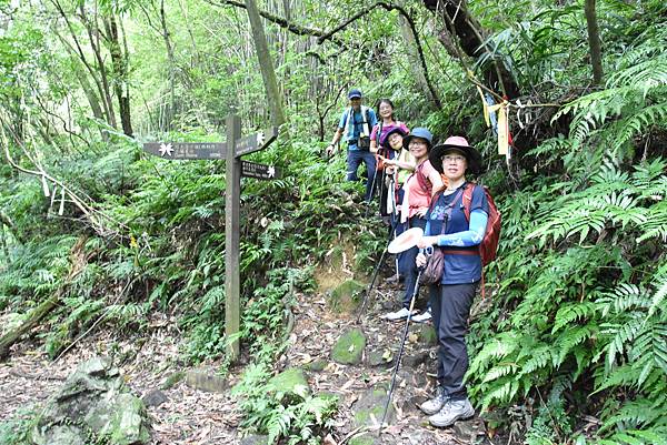
[[[273,125],[280,125],[285,122],[285,113],[282,111],[282,98],[278,89],[276,72],[273,71],[273,62],[267,44],[267,37],[263,31],[263,24],[259,17],[259,10],[255,0],[246,0],[246,9],[250,19],[250,29],[252,31],[252,40],[255,41],[255,50],[259,59],[259,69],[265,83],[267,99],[271,109],[271,118]]]

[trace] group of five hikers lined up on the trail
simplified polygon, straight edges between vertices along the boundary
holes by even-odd
[[[431,425],[450,426],[475,414],[464,383],[468,370],[465,336],[482,267],[495,257],[500,229],[488,191],[466,180],[466,175],[481,173],[481,155],[461,135],[434,144],[428,129],[410,131],[396,120],[389,99],[379,102],[379,120],[361,104],[360,90],[350,90],[348,99],[327,153],[334,154],[339,141],[347,143],[348,181],[357,181],[359,165],[366,164],[365,199],[370,203],[379,191],[380,215],[390,237],[408,229],[424,231],[416,245],[397,257],[394,280],[404,282],[401,307],[384,318],[432,320],[438,336],[438,384],[420,409]],[[429,294],[421,313],[414,311],[418,281],[428,285]]]

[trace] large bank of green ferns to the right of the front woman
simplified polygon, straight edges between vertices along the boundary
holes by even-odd
[[[547,442],[667,443],[667,28],[651,27],[605,89],[565,105],[570,133],[530,154],[566,168],[560,181],[499,198],[504,205],[496,324],[472,325],[471,395],[484,409],[519,398],[542,408]],[[656,142],[657,139],[657,142]],[[550,406],[570,418],[563,428]],[[593,415],[593,433],[580,419]],[[547,436],[541,436],[547,437]]]

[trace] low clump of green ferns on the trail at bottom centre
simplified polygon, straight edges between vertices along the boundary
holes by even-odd
[[[322,428],[330,426],[337,411],[337,398],[310,395],[305,386],[283,393],[268,383],[267,363],[250,365],[232,394],[246,417],[241,426],[268,434],[269,444],[285,437],[288,444],[319,444]]]

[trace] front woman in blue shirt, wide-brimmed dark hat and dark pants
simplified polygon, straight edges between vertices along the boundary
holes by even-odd
[[[478,246],[486,233],[488,203],[481,186],[466,182],[466,173],[479,173],[481,156],[464,138],[451,136],[444,144],[434,146],[429,161],[449,182],[431,205],[425,236],[418,245],[420,249],[442,249],[445,253],[440,284],[429,290],[438,333],[438,387],[435,397],[422,403],[420,408],[430,415],[431,425],[446,427],[475,414],[464,385],[468,370],[465,336],[481,277]],[[464,190],[468,186],[475,186],[470,221],[462,203]],[[417,256],[417,265],[425,264],[426,256],[421,253]]]

